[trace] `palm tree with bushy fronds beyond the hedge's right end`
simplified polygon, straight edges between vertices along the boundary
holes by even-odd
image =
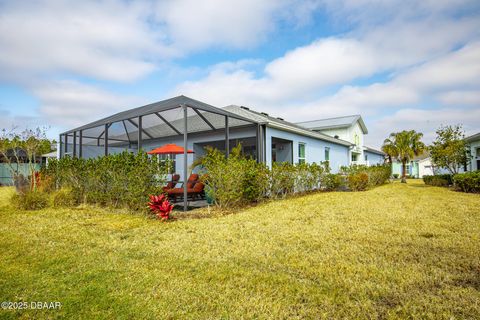
[[[385,152],[391,162],[394,158],[402,163],[402,183],[407,182],[407,163],[414,156],[420,155],[426,148],[421,141],[423,133],[415,130],[394,132],[390,134],[390,138],[385,139],[382,151]]]

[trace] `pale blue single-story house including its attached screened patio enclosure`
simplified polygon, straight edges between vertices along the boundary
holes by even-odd
[[[149,151],[167,143],[184,147],[177,155],[175,171],[183,180],[195,158],[211,146],[227,155],[238,143],[242,152],[271,166],[274,162],[313,163],[329,161],[333,172],[341,166],[358,163],[352,154],[371,154],[367,164],[383,163],[383,153],[362,147],[365,124],[354,116],[353,126],[362,126],[362,135],[355,141],[347,136],[331,136],[322,130],[311,130],[247,107],[230,105],[217,108],[209,104],[178,96],[139,108],[119,112],[60,134],[60,157],[92,158],[120,153],[124,150]],[[346,127],[342,127],[346,128]],[[318,128],[317,128],[318,129]],[[355,131],[356,132],[356,131]],[[343,136],[342,136],[343,137]],[[361,139],[361,140],[360,140]],[[188,154],[192,149],[193,154]],[[360,150],[360,152],[359,152]],[[365,160],[367,158],[365,157]],[[187,206],[184,188],[184,207]]]

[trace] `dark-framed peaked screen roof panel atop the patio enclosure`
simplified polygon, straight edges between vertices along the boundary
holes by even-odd
[[[155,112],[168,111],[168,110],[172,110],[172,109],[175,109],[175,108],[179,108],[181,105],[187,105],[189,107],[196,108],[198,110],[212,112],[212,113],[216,113],[216,114],[219,114],[219,115],[229,116],[231,118],[236,118],[238,120],[252,122],[251,119],[242,118],[242,117],[240,117],[236,114],[230,113],[230,112],[225,111],[221,108],[217,108],[217,107],[214,107],[212,105],[206,104],[204,102],[194,100],[194,99],[191,99],[189,97],[181,95],[181,96],[177,96],[177,97],[174,97],[174,98],[171,98],[171,99],[162,100],[162,101],[155,102],[155,103],[152,103],[152,104],[147,104],[147,105],[142,106],[142,107],[122,111],[122,112],[116,113],[114,115],[111,115],[109,117],[106,117],[106,118],[88,123],[88,124],[83,125],[81,127],[77,127],[75,129],[68,130],[66,132],[63,132],[62,134],[73,133],[74,131],[94,128],[94,127],[98,127],[98,126],[102,126],[102,125],[106,125],[106,124],[111,124],[111,123],[114,123],[114,122],[119,122],[119,121],[122,121],[122,120],[133,119],[133,118],[137,118],[139,116],[154,114]]]

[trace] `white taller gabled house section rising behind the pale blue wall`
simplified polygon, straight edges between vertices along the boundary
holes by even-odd
[[[299,122],[307,129],[351,142],[349,164],[374,165],[385,161],[385,154],[365,146],[367,127],[360,115]]]

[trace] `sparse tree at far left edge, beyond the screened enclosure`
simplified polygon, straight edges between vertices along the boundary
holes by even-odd
[[[37,157],[43,153],[52,151],[52,142],[46,138],[46,128],[25,129],[18,133],[15,128],[10,131],[1,130],[0,134],[0,156],[8,165],[14,182],[18,181],[18,170],[15,163],[28,163],[29,179],[32,189],[37,188],[35,179],[35,164]]]

